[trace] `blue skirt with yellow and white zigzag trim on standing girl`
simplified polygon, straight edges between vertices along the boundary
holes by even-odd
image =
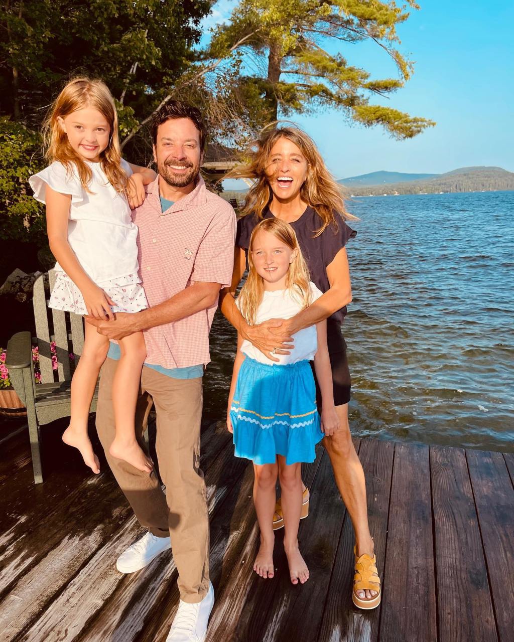
[[[267,365],[245,357],[230,408],[235,454],[254,464],[314,462],[319,426],[314,377],[308,361]]]

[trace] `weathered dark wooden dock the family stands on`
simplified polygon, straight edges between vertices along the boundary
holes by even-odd
[[[87,474],[60,442],[63,428],[44,430],[37,486],[27,431],[0,433],[0,640],[164,642],[179,600],[171,551],[139,573],[116,571],[143,531],[111,473]],[[513,642],[514,454],[355,445],[384,588],[371,612],[351,604],[353,529],[323,448],[304,470],[310,516],[299,537],[310,579],[292,586],[280,533],[276,577],[253,573],[252,469],[233,456],[224,426],[206,426],[217,599],[208,641]]]

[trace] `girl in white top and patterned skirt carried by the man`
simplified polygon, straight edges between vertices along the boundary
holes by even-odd
[[[116,312],[147,308],[137,275],[137,227],[127,196],[139,205],[144,185],[155,174],[121,159],[118,116],[109,89],[89,78],[71,80],[51,108],[45,134],[51,164],[30,178],[30,186],[34,197],[46,204],[49,245],[58,261],[49,306],[109,320]],[[109,452],[150,473],[152,461],[134,430],[146,356],[143,333],[121,339],[120,348],[112,385],[116,437]],[[86,323],[84,350],[71,382],[71,420],[62,436],[80,450],[94,473],[100,473],[100,464],[87,435],[87,419],[108,349],[109,339]]]

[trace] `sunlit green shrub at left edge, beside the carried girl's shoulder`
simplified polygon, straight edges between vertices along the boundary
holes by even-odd
[[[44,242],[44,209],[31,196],[28,177],[44,167],[41,137],[0,117],[0,240]]]

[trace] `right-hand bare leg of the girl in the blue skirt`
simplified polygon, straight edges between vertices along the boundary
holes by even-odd
[[[298,546],[302,503],[301,464],[286,465],[285,457],[278,455],[278,476],[284,516],[284,550],[289,564],[289,575],[293,584],[298,584],[298,581],[305,584],[309,578],[309,569]]]

